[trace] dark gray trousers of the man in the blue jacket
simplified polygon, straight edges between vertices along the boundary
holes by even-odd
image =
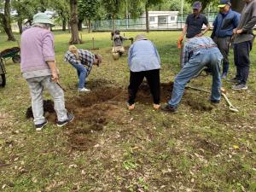
[[[215,44],[217,44],[218,49],[223,55],[223,73],[228,73],[230,67],[229,54],[230,54],[230,41],[231,37],[225,38],[217,38],[216,36],[213,38]]]

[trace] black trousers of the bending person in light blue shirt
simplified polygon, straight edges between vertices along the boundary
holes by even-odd
[[[137,90],[143,83],[144,78],[146,78],[148,81],[154,104],[160,104],[160,69],[154,69],[143,72],[130,71],[130,84],[128,86],[129,105],[134,104]]]

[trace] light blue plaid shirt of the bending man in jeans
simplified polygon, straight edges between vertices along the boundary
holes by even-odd
[[[217,47],[213,42],[212,38],[201,37],[201,38],[189,38],[184,44],[182,67],[185,66],[189,59],[199,50],[206,47]],[[197,51],[196,51],[197,50]]]

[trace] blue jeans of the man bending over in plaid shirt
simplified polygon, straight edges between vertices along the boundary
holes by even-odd
[[[218,48],[200,49],[189,59],[174,80],[172,99],[168,102],[171,107],[177,107],[181,101],[187,82],[195,77],[205,66],[212,70],[212,101],[219,101],[221,97],[220,64],[223,56]]]

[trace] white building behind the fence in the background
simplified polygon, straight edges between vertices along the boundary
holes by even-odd
[[[148,11],[150,29],[168,29],[177,27],[178,11]],[[146,20],[146,14],[142,15]]]

